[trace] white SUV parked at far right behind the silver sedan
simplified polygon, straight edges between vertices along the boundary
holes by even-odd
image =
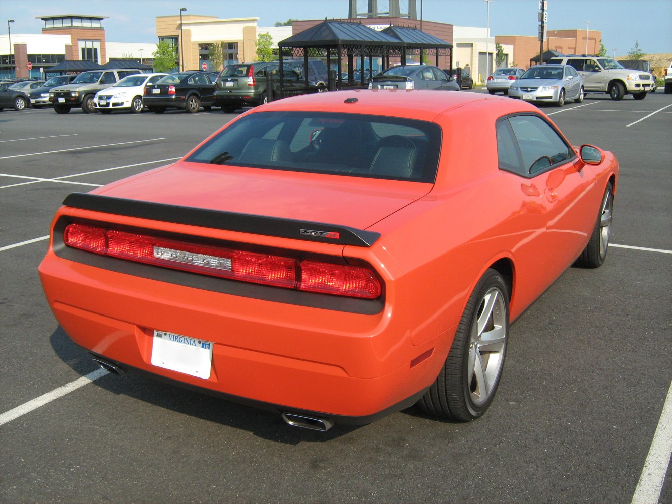
[[[626,69],[618,61],[602,56],[558,56],[549,64],[571,65],[583,75],[585,93],[607,93],[612,99],[623,99],[631,94],[644,99],[653,90],[653,77],[648,72]]]

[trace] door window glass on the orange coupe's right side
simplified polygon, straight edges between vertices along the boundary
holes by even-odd
[[[571,159],[575,153],[558,133],[538,116],[509,118],[525,173],[535,175],[546,168]]]

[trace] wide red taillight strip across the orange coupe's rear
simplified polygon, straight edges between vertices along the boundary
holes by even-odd
[[[63,241],[101,255],[254,284],[364,299],[381,293],[380,281],[364,266],[195,245],[80,223],[66,226]]]

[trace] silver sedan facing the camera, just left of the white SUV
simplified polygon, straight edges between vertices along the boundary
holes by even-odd
[[[562,107],[564,101],[583,101],[583,77],[570,65],[536,65],[509,87],[511,98],[548,101]]]

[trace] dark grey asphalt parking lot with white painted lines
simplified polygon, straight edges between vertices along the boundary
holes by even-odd
[[[672,503],[672,95],[542,110],[620,161],[605,264],[568,269],[516,321],[482,419],[411,408],[328,433],[99,372],[42,294],[67,194],[176,160],[235,115],[0,112],[0,502]]]

